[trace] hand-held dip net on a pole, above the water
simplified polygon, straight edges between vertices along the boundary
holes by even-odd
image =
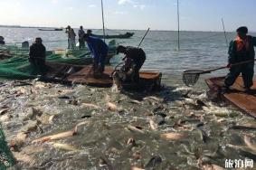
[[[200,70],[184,71],[183,82],[185,83],[186,86],[194,86],[202,72],[203,71]]]

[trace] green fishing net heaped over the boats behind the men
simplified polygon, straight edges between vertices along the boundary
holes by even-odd
[[[115,42],[109,45],[109,52],[116,49]],[[24,80],[37,78],[40,71],[28,61],[29,49],[17,46],[0,46],[0,53],[5,52],[11,57],[0,60],[0,78],[10,80]],[[73,65],[87,65],[92,63],[90,52],[82,50],[55,50],[46,52],[47,62],[58,62]]]

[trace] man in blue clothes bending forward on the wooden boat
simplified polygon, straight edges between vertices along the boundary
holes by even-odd
[[[108,55],[109,47],[100,38],[91,37],[88,33],[83,35],[87,42],[90,52],[93,57],[93,73],[102,74],[105,70],[105,61]]]

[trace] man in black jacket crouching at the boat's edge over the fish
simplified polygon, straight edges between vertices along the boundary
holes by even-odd
[[[139,82],[139,70],[146,60],[145,52],[141,48],[119,45],[117,53],[125,54],[125,58],[123,59],[123,61],[125,61],[124,66],[122,66],[120,71],[115,71],[113,74],[113,79],[117,82],[118,88],[120,84],[119,81],[137,84]]]

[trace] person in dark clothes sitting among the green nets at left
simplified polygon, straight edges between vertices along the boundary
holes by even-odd
[[[41,75],[46,73],[45,57],[46,50],[40,37],[35,38],[35,42],[30,46],[29,61],[34,68],[38,69]]]

